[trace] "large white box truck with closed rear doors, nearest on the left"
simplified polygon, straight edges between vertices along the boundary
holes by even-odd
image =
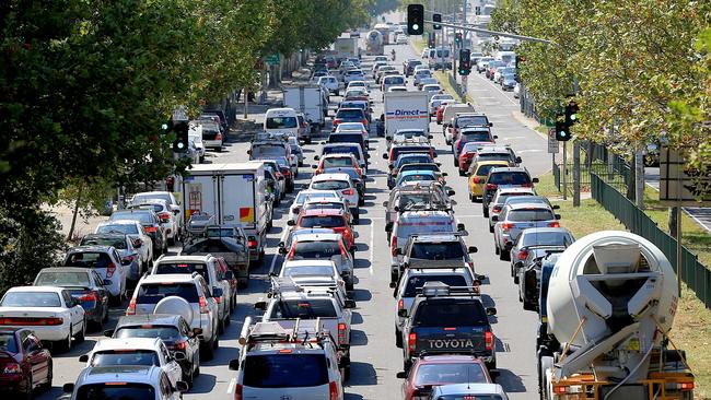
[[[219,225],[241,225],[247,236],[249,262],[258,263],[267,247],[271,201],[264,163],[199,164],[183,178],[183,214],[213,216]]]

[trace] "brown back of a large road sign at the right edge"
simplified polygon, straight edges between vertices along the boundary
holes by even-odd
[[[687,168],[684,150],[679,152],[662,146],[660,158],[660,203],[662,205],[711,205],[709,190],[711,176],[698,176],[695,170]]]

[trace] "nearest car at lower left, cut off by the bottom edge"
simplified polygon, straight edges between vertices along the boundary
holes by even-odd
[[[159,366],[125,365],[120,374],[115,366],[84,368],[77,383],[65,384],[62,390],[71,393],[71,400],[180,400],[188,385],[184,381],[171,384],[167,374]]]

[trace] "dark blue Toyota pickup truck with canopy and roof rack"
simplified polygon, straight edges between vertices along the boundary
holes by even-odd
[[[403,327],[404,366],[421,353],[474,354],[489,370],[497,367],[494,336],[489,316],[496,308],[485,308],[478,292],[470,287],[450,287],[442,282],[427,282],[419,290]]]

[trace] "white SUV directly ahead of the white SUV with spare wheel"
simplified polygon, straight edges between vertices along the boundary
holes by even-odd
[[[161,256],[151,270],[151,274],[161,275],[161,274],[175,274],[175,273],[187,273],[191,274],[194,272],[199,273],[205,282],[208,284],[208,287],[212,289],[212,297],[218,303],[218,329],[220,333],[224,332],[225,326],[230,325],[230,313],[232,301],[230,298],[230,293],[232,293],[232,287],[230,287],[230,281],[224,279],[222,274],[222,267],[220,266],[217,258],[212,255],[205,256]],[[222,290],[222,295],[215,295],[215,289]]]

